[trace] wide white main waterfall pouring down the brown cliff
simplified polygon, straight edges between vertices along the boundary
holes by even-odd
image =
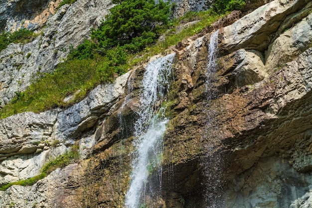
[[[175,54],[150,62],[143,78],[140,98],[141,110],[135,124],[135,156],[132,163],[130,189],[126,195],[127,208],[145,206],[145,186],[152,171],[161,168],[162,135],[167,119],[162,102],[172,77],[171,68]],[[161,169],[159,176],[161,177]]]

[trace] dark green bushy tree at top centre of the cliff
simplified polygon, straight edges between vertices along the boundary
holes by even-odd
[[[117,5],[102,21],[100,27],[92,30],[91,38],[99,47],[109,49],[122,46],[129,52],[138,52],[156,41],[158,31],[168,23],[170,6],[160,0],[112,0]]]

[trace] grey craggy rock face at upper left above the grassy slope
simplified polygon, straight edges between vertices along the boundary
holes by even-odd
[[[52,72],[67,57],[71,47],[75,48],[89,37],[91,26],[98,25],[112,6],[109,0],[77,0],[72,5],[63,5],[49,16],[42,34],[32,42],[11,44],[2,50],[0,106],[7,104],[15,92],[24,91],[37,73]]]

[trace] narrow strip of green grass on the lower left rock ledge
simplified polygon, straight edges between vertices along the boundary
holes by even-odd
[[[55,159],[50,160],[47,164],[45,164],[40,174],[37,176],[34,176],[32,178],[26,179],[26,180],[19,180],[16,182],[8,183],[5,185],[0,186],[0,191],[5,191],[11,186],[17,185],[17,186],[32,186],[37,181],[45,178],[47,175],[49,175],[52,171],[56,170],[57,168],[63,168],[73,162],[76,162],[79,160],[79,152],[77,147],[72,147],[70,151],[67,151],[65,154],[60,155],[56,157]]]

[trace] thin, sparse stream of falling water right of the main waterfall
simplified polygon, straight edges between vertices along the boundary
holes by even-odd
[[[215,77],[215,72],[217,69],[217,53],[218,53],[218,34],[219,30],[214,32],[210,36],[210,42],[208,47],[208,64],[207,64],[207,72],[206,72],[206,108],[210,109],[207,110],[206,114],[206,125],[205,125],[205,135],[202,139],[205,140],[205,149],[206,155],[202,160],[203,166],[203,174],[206,178],[205,187],[206,193],[205,198],[208,204],[207,207],[215,208],[215,207],[222,207],[222,196],[220,195],[220,190],[222,190],[221,186],[221,166],[222,166],[222,158],[220,155],[216,154],[215,147],[218,143],[218,136],[213,135],[212,132],[216,128],[213,125],[213,116],[212,112],[215,109],[211,106],[211,100],[214,99],[215,95],[212,89],[212,82]]]

